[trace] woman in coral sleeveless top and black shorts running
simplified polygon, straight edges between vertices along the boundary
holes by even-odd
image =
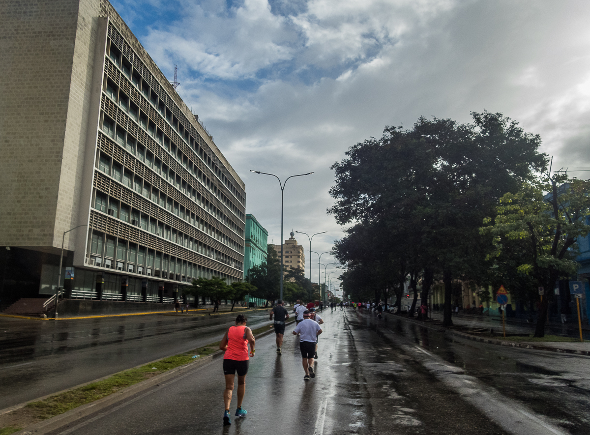
[[[254,357],[254,335],[252,330],[246,326],[248,319],[244,314],[238,314],[235,318],[235,325],[230,327],[219,343],[219,350],[225,352],[223,359],[223,373],[225,376],[225,390],[223,400],[225,412],[223,424],[231,424],[230,403],[234,392],[235,373],[238,373],[238,407],[235,410],[236,417],[243,417],[247,414],[242,409],[242,401],[246,392],[246,374],[250,357]],[[250,357],[248,357],[248,345],[250,345]]]

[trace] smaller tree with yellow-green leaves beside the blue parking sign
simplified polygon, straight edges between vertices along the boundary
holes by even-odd
[[[496,259],[498,275],[512,285],[513,294],[532,297],[537,286],[546,289],[535,337],[545,335],[556,283],[576,274],[576,242],[590,230],[589,192],[590,180],[565,175],[539,178],[501,197],[495,217],[487,218],[484,222],[490,225],[481,229],[493,236],[495,250],[490,257]]]

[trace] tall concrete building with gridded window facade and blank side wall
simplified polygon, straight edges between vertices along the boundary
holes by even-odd
[[[74,298],[241,281],[245,184],[113,6],[0,9],[2,302],[56,291],[63,238]]]

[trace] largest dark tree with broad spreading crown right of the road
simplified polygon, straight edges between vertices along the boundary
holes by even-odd
[[[445,325],[452,325],[453,279],[479,278],[489,245],[481,222],[501,196],[546,166],[539,136],[498,113],[472,116],[473,124],[422,117],[411,130],[386,127],[381,139],[350,147],[332,166],[336,201],[329,212],[342,225],[379,223],[405,233],[399,244],[410,240],[413,253],[389,255],[387,265],[400,282],[396,288],[404,271],[439,271]]]

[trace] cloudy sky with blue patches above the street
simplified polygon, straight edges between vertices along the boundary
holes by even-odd
[[[315,172],[287,183],[284,235],[327,231],[312,249],[329,251],[342,236],[325,212],[330,166],[422,115],[501,112],[542,136],[554,166],[590,169],[589,1],[112,3],[171,80],[178,64],[179,94],[246,183],[269,242],[280,240],[280,189],[250,169]]]

